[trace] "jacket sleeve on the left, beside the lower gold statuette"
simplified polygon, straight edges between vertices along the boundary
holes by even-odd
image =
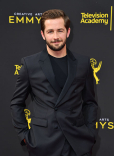
[[[21,64],[10,108],[13,126],[18,133],[21,145],[23,145],[24,135],[29,130],[24,109],[26,107],[25,100],[30,92],[30,84],[24,58],[21,59]]]

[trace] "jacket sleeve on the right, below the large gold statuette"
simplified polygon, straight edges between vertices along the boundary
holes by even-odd
[[[90,60],[88,60],[88,73],[86,77],[85,87],[82,92],[82,100],[85,124],[93,133],[96,139],[97,131],[95,124],[97,120],[98,104],[95,100],[93,70],[91,68]]]

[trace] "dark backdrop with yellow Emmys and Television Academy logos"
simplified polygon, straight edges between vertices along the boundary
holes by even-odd
[[[71,20],[67,47],[89,56],[99,105],[97,142],[93,156],[113,156],[114,138],[114,1],[113,0],[11,0],[0,1],[0,155],[27,156],[13,128],[10,113],[21,58],[40,52],[45,41],[40,34],[44,11],[63,10]],[[30,96],[25,116],[30,127]],[[56,152],[56,151],[55,151]]]

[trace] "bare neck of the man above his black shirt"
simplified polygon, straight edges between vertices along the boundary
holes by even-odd
[[[61,58],[67,55],[66,45],[60,51],[53,51],[47,46],[47,52],[53,57]]]

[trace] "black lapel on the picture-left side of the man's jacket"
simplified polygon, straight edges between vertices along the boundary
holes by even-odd
[[[48,81],[51,84],[51,86],[53,87],[53,89],[56,91],[57,94],[60,94],[61,89],[57,85],[57,82],[55,80],[55,75],[54,75],[46,48],[42,51],[42,53],[40,55],[39,63],[40,63],[40,66],[41,66],[46,78],[48,79]]]

